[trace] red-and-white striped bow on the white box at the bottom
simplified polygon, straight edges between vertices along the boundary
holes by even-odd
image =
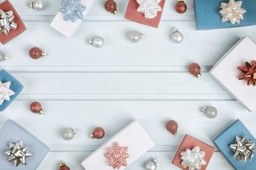
[[[128,147],[119,147],[118,143],[114,143],[114,147],[107,149],[107,153],[104,154],[109,159],[109,166],[113,169],[120,169],[121,166],[127,166],[126,159],[129,157]]]

